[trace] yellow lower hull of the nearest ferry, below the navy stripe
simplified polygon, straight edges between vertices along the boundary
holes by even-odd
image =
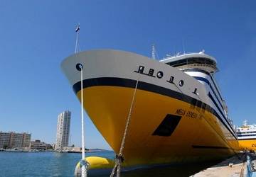
[[[133,93],[134,89],[122,86],[83,89],[87,114],[116,153]],[[181,117],[174,132],[169,136],[154,135],[166,115]],[[128,166],[211,161],[238,150],[238,141],[212,113],[169,96],[137,89],[123,153]]]

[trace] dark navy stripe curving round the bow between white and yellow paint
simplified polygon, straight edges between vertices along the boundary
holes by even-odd
[[[117,77],[100,77],[100,78],[84,79],[82,82],[82,88],[85,89],[90,86],[123,86],[123,87],[135,88],[136,82],[137,82],[136,80],[132,80],[132,79],[124,79],[124,78],[117,78]],[[159,93],[161,95],[169,96],[171,98],[175,98],[180,101],[185,101],[186,103],[190,103],[191,105],[196,105],[198,108],[207,110],[209,113],[212,113],[213,115],[215,115],[220,120],[220,122],[223,123],[223,125],[227,128],[227,130],[229,130],[229,132],[233,135],[235,139],[238,139],[236,135],[232,131],[230,131],[230,129],[228,128],[228,125],[225,124],[223,119],[220,118],[220,115],[218,115],[218,113],[212,107],[210,107],[210,105],[207,105],[202,101],[198,101],[196,98],[187,96],[177,91],[173,91],[171,89],[167,89],[165,87],[149,84],[144,81],[139,81],[137,89]],[[73,85],[73,91],[75,93],[78,93],[78,91],[80,90],[81,90],[81,82],[78,81]]]

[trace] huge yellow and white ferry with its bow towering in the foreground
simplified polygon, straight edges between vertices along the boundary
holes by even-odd
[[[90,50],[66,58],[61,67],[117,154],[133,102],[123,151],[127,166],[212,161],[239,151],[215,81],[216,60],[204,52],[157,61],[132,52]]]

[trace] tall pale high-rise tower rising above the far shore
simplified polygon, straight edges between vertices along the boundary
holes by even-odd
[[[69,110],[65,110],[63,113],[58,115],[55,150],[62,150],[63,147],[68,147],[70,118],[71,112]]]

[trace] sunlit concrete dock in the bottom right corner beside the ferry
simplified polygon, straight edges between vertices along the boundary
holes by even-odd
[[[250,156],[250,161],[247,161],[247,156]],[[256,172],[256,154],[238,154],[226,159],[225,161],[216,164],[208,169],[200,171],[193,177],[205,176],[232,176],[232,177],[250,177],[255,176]]]

